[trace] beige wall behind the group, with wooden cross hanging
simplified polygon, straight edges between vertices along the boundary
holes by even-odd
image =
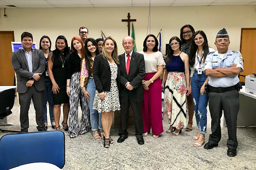
[[[256,28],[256,6],[177,6],[151,7],[151,33],[157,35],[162,28],[162,53],[172,36],[179,36],[184,24],[191,24],[195,30],[205,31],[209,46],[214,49],[217,32],[226,28],[230,36],[230,49],[239,50],[241,28]],[[122,38],[128,35],[126,19],[128,12],[134,22],[137,51],[141,51],[147,34],[148,7],[108,8],[7,8],[7,18],[1,12],[1,30],[13,30],[15,41],[20,41],[24,31],[31,32],[39,48],[41,36],[48,35],[54,42],[58,35],[64,35],[69,43],[78,36],[78,28],[86,26],[89,37],[100,38],[102,30],[106,36],[117,41],[119,53]],[[2,40],[1,40],[2,41]]]

